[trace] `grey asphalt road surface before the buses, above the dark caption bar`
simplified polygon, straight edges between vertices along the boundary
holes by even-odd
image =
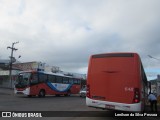
[[[7,92],[8,91],[8,92]],[[85,106],[85,98],[78,95],[65,96],[46,96],[25,97],[14,95],[13,91],[0,91],[0,110],[2,111],[92,111],[94,108]]]

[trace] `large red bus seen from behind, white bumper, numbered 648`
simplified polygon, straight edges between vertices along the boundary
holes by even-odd
[[[147,93],[147,77],[137,53],[106,53],[90,57],[87,106],[143,111]]]

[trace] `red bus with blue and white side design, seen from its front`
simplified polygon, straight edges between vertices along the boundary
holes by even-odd
[[[38,95],[65,95],[78,94],[80,79],[57,73],[41,71],[20,72],[15,84],[14,93],[24,94],[29,97]]]

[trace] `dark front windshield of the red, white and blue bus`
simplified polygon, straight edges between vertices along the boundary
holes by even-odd
[[[29,85],[31,73],[20,73],[17,79],[17,84],[21,86]]]

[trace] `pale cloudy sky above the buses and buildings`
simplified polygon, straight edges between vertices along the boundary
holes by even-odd
[[[18,61],[86,74],[92,54],[137,52],[148,79],[156,78],[159,5],[160,0],[0,0],[0,59],[9,59],[7,47],[18,41]]]

